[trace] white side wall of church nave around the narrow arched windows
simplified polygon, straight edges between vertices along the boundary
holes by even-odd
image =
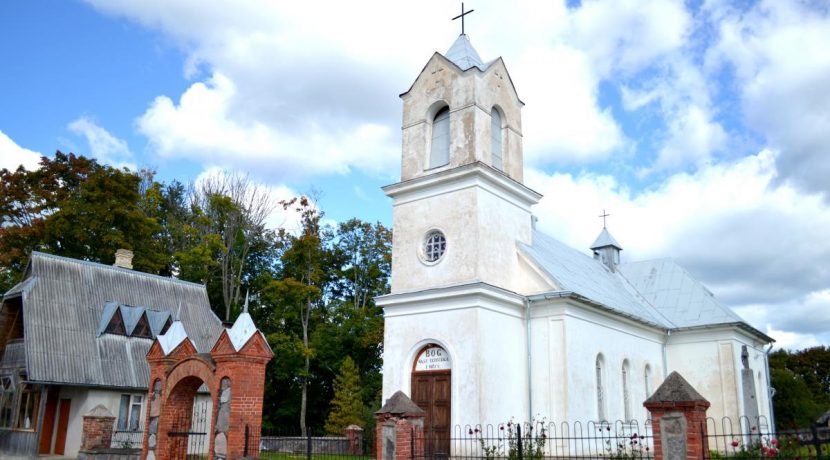
[[[654,329],[566,303],[539,307],[533,337],[533,411],[557,422],[597,421],[596,358],[605,359],[606,418],[624,417],[622,366],[628,360],[631,416],[647,411],[645,367],[653,391],[662,381],[662,334]]]

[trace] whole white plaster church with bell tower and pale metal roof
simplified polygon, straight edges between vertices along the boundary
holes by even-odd
[[[482,61],[462,33],[401,99],[401,180],[384,187],[392,286],[377,299],[384,400],[409,395],[437,436],[511,418],[643,421],[678,371],[710,417],[772,422],[773,339],[673,260],[621,260],[606,228],[590,248],[535,228],[524,104],[501,58]]]

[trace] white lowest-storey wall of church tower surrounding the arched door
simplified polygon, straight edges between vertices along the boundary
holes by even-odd
[[[526,412],[521,318],[469,305],[397,316],[386,314],[383,398],[411,396],[417,353],[437,343],[452,362],[452,424],[497,424]]]

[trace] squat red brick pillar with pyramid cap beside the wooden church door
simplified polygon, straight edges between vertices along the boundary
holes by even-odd
[[[375,412],[377,460],[410,460],[424,456],[424,415],[402,391]]]

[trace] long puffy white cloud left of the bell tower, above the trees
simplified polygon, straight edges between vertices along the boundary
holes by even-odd
[[[138,120],[139,131],[164,156],[239,166],[274,179],[291,175],[345,173],[353,167],[378,172],[397,163],[395,137],[384,125],[361,123],[327,129],[315,119],[296,119],[288,131],[232,115],[234,83],[216,74],[194,83],[178,104],[160,96]],[[298,116],[302,114],[298,113]]]

